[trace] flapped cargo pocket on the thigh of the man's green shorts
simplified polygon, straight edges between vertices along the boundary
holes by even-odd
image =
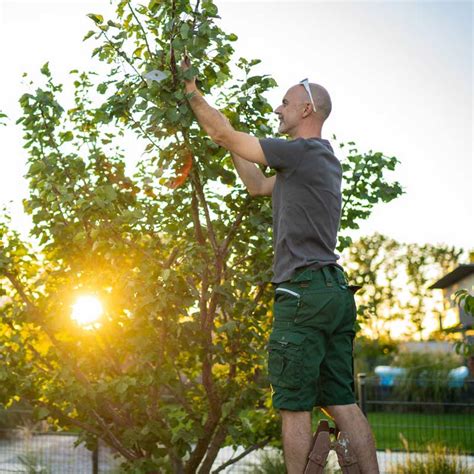
[[[304,334],[273,331],[268,344],[268,373],[276,387],[301,387]]]

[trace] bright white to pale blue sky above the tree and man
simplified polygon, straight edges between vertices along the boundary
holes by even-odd
[[[353,140],[360,151],[381,151],[401,164],[390,175],[405,194],[378,205],[354,236],[384,233],[401,242],[473,249],[473,3],[406,1],[224,1],[221,26],[239,39],[236,57],[259,58],[258,71],[286,90],[308,77],[328,89],[333,111],[323,137]],[[91,58],[87,13],[108,1],[0,0],[0,205],[8,204],[24,233],[21,201],[26,153],[18,99],[22,73],[38,79],[49,61],[54,77],[70,83],[71,69],[104,73]],[[131,153],[139,150],[130,144]],[[343,158],[343,156],[339,156]]]

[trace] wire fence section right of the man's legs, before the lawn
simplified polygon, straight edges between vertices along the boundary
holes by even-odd
[[[402,378],[381,385],[378,377],[359,374],[358,392],[378,449],[426,451],[438,444],[474,455],[474,380],[450,386]]]

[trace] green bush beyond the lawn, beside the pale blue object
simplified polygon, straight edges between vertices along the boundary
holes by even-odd
[[[400,401],[446,401],[450,391],[449,371],[459,367],[456,354],[400,352],[393,365],[406,369],[397,379],[395,396]]]

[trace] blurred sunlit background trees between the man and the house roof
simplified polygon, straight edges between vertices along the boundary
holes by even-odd
[[[432,300],[429,282],[455,266],[462,249],[445,245],[405,244],[375,233],[353,242],[343,254],[344,267],[357,292],[359,324],[374,339],[390,338],[387,323],[407,320],[406,336],[422,338],[427,303]],[[448,303],[440,302],[437,316]]]

